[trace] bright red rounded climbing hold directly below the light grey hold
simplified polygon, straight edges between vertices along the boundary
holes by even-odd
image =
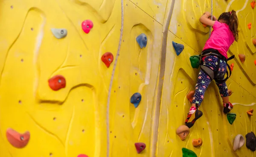
[[[61,88],[66,87],[66,80],[62,75],[55,75],[48,80],[50,88],[54,91],[58,91]]]

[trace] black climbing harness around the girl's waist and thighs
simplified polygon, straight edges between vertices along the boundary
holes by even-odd
[[[213,71],[213,69],[211,69],[210,66],[208,66],[207,64],[204,64],[203,57],[206,57],[206,56],[209,56],[209,55],[218,57],[216,71]],[[210,77],[211,80],[215,80],[215,82],[217,82],[217,83],[223,83],[231,76],[231,69],[230,69],[230,66],[228,65],[227,61],[232,60],[235,57],[235,55],[233,55],[233,56],[231,56],[227,59],[222,54],[220,54],[217,50],[207,49],[207,50],[204,50],[199,56],[201,57],[201,59],[200,59],[201,60],[201,62],[200,62],[201,70],[204,71]],[[220,66],[220,60],[225,61],[225,63],[227,64],[227,68],[230,71],[229,73],[228,73],[228,71],[226,72],[227,77],[224,80],[218,80],[216,78],[217,73],[218,73],[218,69],[219,69],[219,66]]]

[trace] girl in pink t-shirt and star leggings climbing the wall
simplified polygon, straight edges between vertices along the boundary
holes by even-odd
[[[234,40],[238,40],[238,18],[236,11],[233,10],[222,13],[218,20],[214,16],[213,20],[209,20],[209,17],[211,17],[209,12],[205,12],[200,17],[200,22],[212,26],[213,31],[201,54],[203,62],[201,61],[201,70],[195,85],[192,106],[185,121],[186,126],[189,128],[203,115],[202,111],[198,110],[198,107],[201,105],[204,93],[213,79],[223,100],[223,112],[227,114],[233,108],[233,105],[229,102],[225,83],[228,77],[224,79],[224,75],[227,72],[227,51]]]

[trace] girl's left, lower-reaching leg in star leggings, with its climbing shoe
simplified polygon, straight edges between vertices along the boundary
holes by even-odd
[[[204,99],[204,93],[210,82],[210,77],[204,71],[200,70],[198,74],[198,80],[195,85],[195,94],[193,97],[192,106],[189,109],[189,113],[185,121],[186,126],[189,128],[191,128],[195,121],[203,115],[202,111],[198,110],[198,107],[201,105]]]

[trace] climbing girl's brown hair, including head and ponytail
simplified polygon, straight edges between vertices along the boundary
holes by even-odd
[[[222,20],[223,23],[226,23],[235,37],[235,40],[238,40],[238,18],[236,16],[236,11],[232,10],[230,12],[224,12],[218,18],[218,21]]]

